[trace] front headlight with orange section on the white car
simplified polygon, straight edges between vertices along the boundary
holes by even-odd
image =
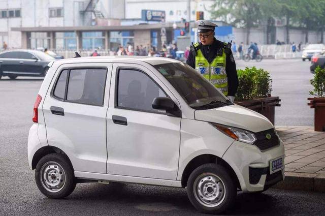
[[[239,128],[233,128],[225,125],[210,123],[213,127],[224,133],[225,135],[248,144],[253,144],[257,139],[252,132]]]

